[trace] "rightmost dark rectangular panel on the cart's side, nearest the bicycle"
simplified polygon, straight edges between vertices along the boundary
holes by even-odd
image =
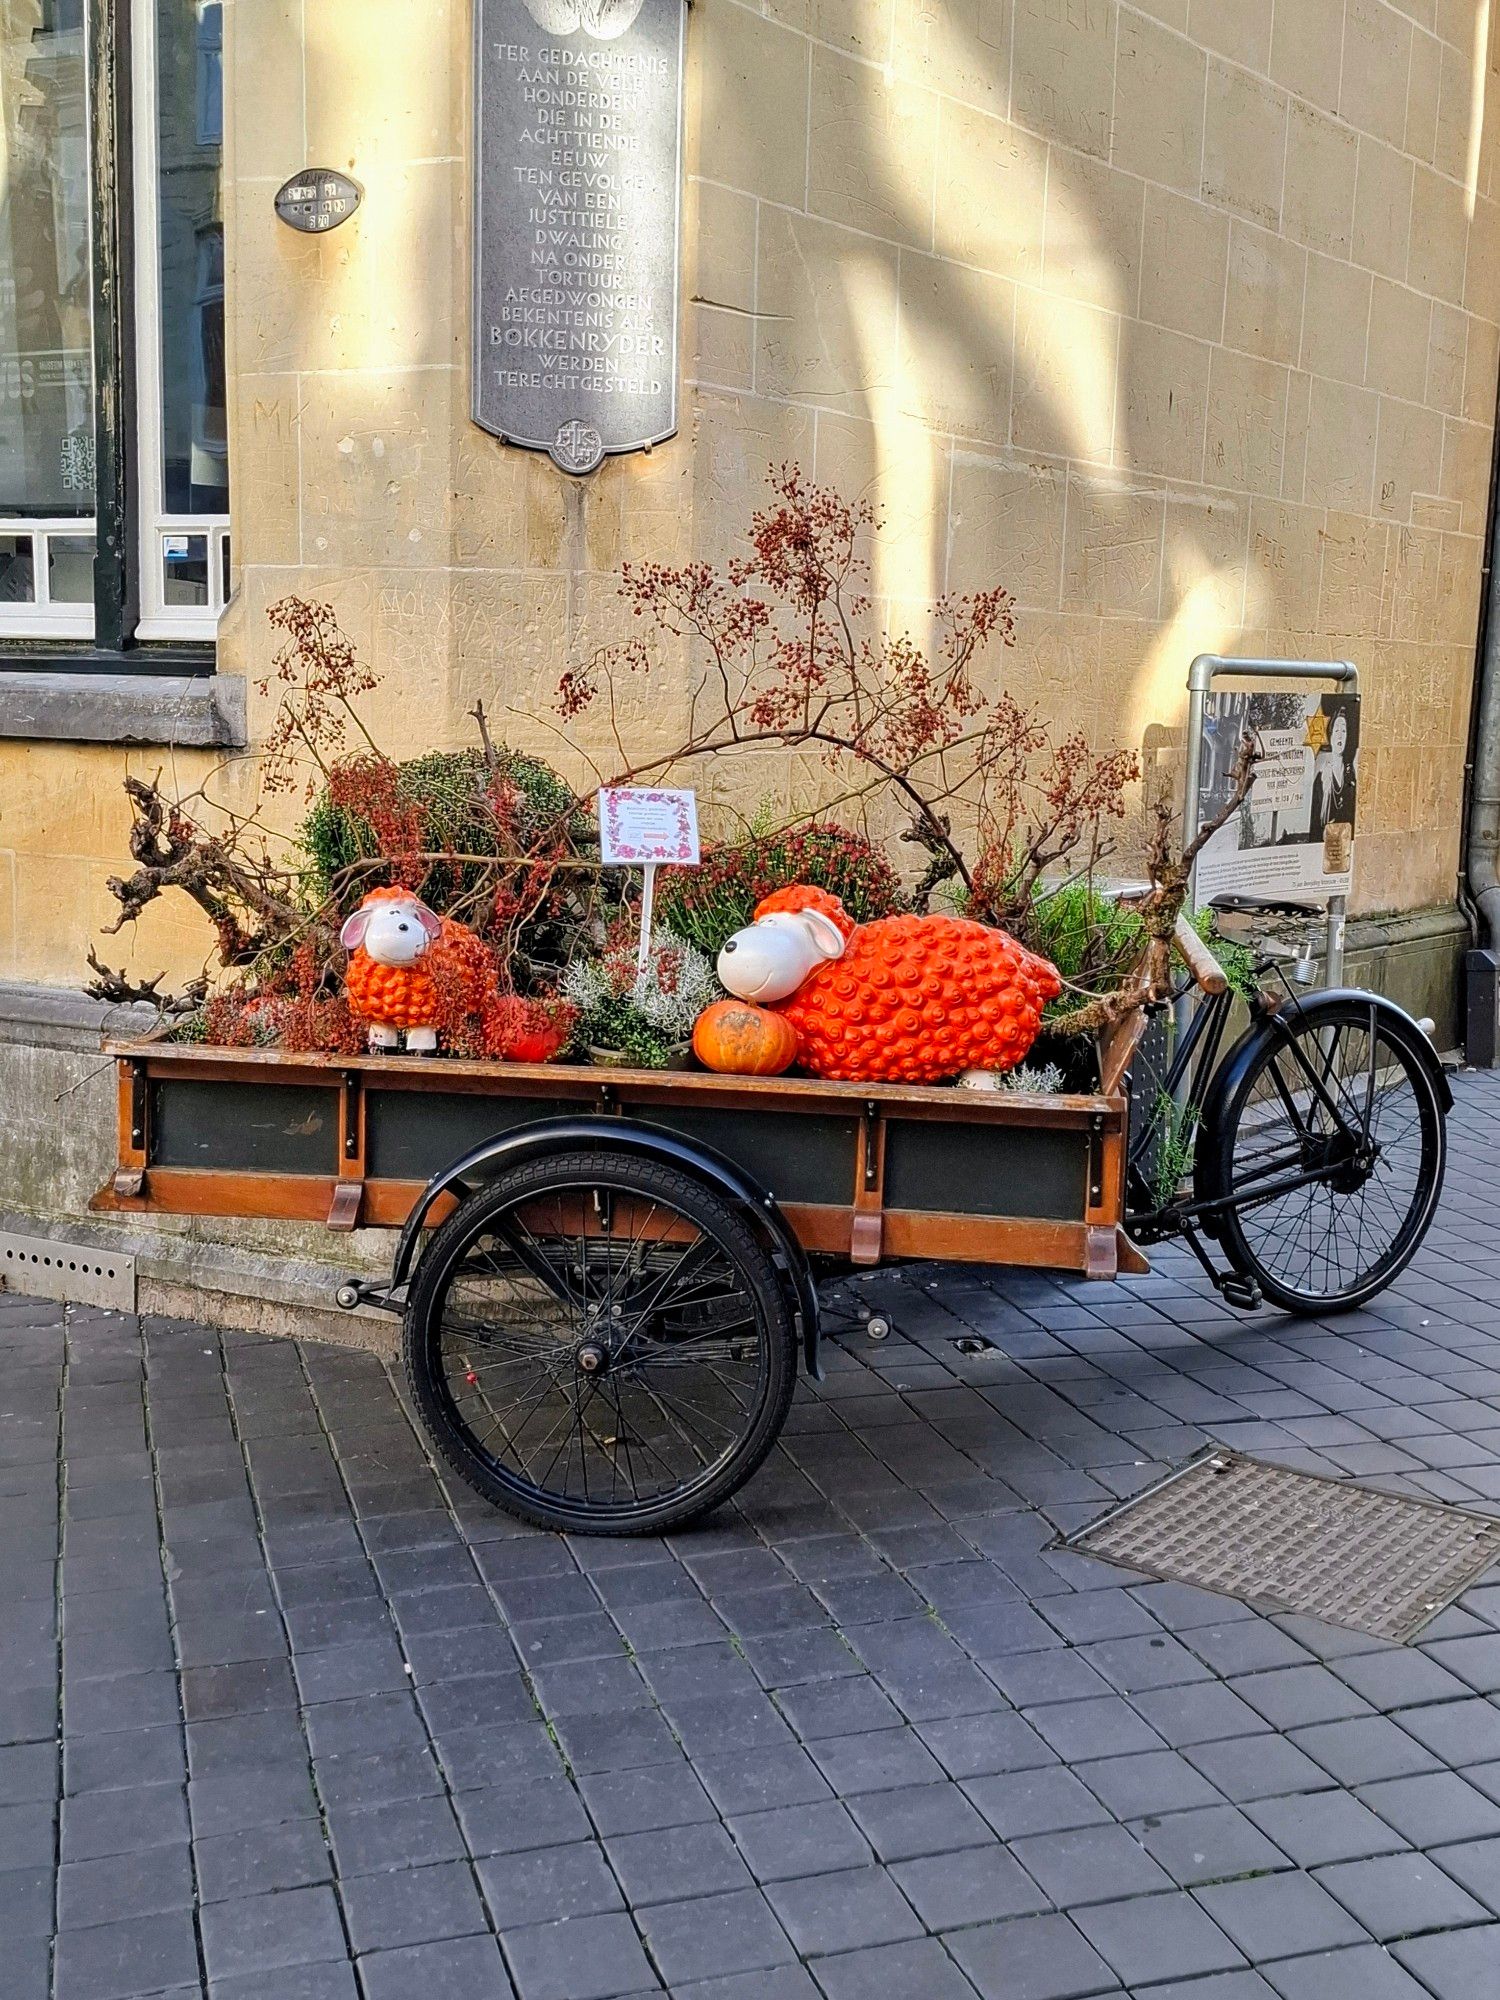
[[[886,1208],[1082,1222],[1088,1134],[892,1118]]]

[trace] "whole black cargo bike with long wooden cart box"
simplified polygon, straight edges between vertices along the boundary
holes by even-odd
[[[1218,908],[1254,932],[1318,916]],[[1298,952],[1258,936],[1232,1038],[1216,958],[1182,922],[1176,948],[1194,1004],[1170,1052],[1150,1060],[1172,1004],[1134,1010],[1068,1094],[108,1044],[120,1152],[94,1206],[396,1228],[390,1280],[338,1302],[402,1316],[444,1460],[528,1522],[660,1534],[752,1476],[798,1366],[820,1372],[824,1268],[1110,1280],[1186,1238],[1232,1304],[1326,1318],[1408,1264],[1452,1102],[1422,1026],[1278,990]]]

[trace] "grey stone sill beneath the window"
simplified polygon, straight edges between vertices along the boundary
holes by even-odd
[[[244,748],[244,680],[228,674],[0,670],[0,738]]]

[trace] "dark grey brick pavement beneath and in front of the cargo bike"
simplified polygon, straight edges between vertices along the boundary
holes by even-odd
[[[1500,1996],[1500,1578],[1398,1648],[1050,1548],[1210,1438],[1500,1506],[1498,1114],[1336,1326],[882,1274],[668,1542],[446,1488],[370,1356],[0,1300],[0,1992]]]

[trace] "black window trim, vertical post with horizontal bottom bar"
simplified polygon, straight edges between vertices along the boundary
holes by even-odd
[[[152,0],[86,0],[90,270],[94,282],[94,644],[8,638],[0,672],[212,674],[216,646],[136,644],[140,622],[140,492],[136,434],[130,8]]]

